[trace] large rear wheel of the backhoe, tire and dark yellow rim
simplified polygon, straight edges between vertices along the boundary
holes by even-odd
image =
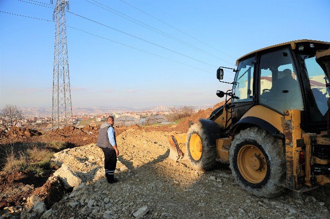
[[[233,177],[247,192],[273,197],[284,190],[284,144],[264,129],[247,128],[234,136],[229,162]]]

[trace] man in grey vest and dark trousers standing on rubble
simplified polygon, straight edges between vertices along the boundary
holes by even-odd
[[[96,145],[100,147],[104,153],[104,171],[108,183],[116,183],[118,179],[114,177],[114,172],[117,165],[117,149],[116,134],[113,128],[115,119],[109,116],[106,122],[99,129],[98,142]]]

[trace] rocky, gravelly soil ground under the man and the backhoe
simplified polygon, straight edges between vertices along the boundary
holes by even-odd
[[[66,193],[47,211],[43,202],[35,202],[21,218],[330,218],[329,186],[260,198],[242,191],[227,165],[204,172],[170,160],[167,132],[135,127],[118,135],[117,144],[118,183],[106,182],[103,154],[94,144],[66,149],[55,154],[55,161],[78,177],[80,185],[73,186],[73,192]]]

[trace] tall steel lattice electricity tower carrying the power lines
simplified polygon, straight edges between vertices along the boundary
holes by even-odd
[[[56,7],[53,13],[53,20],[56,23],[56,27],[52,129],[60,128],[60,124],[72,124],[70,77],[66,45],[66,7],[68,9],[68,0],[56,0]]]

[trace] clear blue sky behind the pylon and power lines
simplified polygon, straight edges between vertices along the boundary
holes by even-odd
[[[50,0],[25,1],[50,3]],[[53,1],[55,4],[56,0]],[[235,59],[241,55],[286,41],[330,41],[329,0],[125,0],[186,34],[120,0],[97,1],[219,58],[200,53],[86,0],[69,0],[71,12],[209,65],[69,13],[66,25],[211,72],[67,27],[72,106],[215,104],[220,101],[216,90],[229,89],[216,79],[218,66],[234,67]],[[19,0],[0,0],[0,10],[48,20],[52,20],[53,13],[51,8]],[[54,35],[55,23],[0,13],[0,106],[51,106]],[[225,77],[230,81],[233,75],[225,72]]]

